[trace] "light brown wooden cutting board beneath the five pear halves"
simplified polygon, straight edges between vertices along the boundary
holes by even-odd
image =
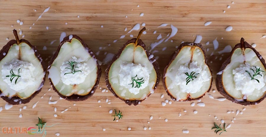
[[[39,50],[44,60],[49,60],[53,52],[59,45],[61,32],[67,35],[79,35],[87,45],[94,51],[99,52],[96,56],[98,60],[103,61],[105,53],[116,53],[118,49],[131,39],[126,34],[137,23],[146,23],[147,34],[142,35],[141,39],[150,48],[150,44],[158,42],[156,37],[161,34],[163,38],[171,33],[170,24],[178,28],[177,34],[167,42],[158,45],[154,53],[158,56],[160,64],[160,73],[162,74],[166,63],[171,54],[176,50],[176,46],[182,41],[194,42],[196,35],[202,35],[201,43],[207,49],[209,48],[208,61],[212,61],[210,66],[213,69],[213,88],[215,86],[215,77],[223,61],[226,60],[229,53],[218,54],[216,51],[223,50],[226,45],[232,47],[240,42],[240,38],[252,44],[256,43],[256,49],[262,57],[266,57],[265,42],[266,38],[261,38],[266,34],[266,1],[260,0],[231,0],[213,1],[213,0],[193,0],[193,1],[153,1],[147,2],[140,0],[132,1],[109,1],[109,0],[79,0],[79,1],[0,1],[0,45],[4,46],[9,40],[14,39],[13,29],[21,29],[24,39],[30,41]],[[139,5],[139,7],[137,6]],[[230,5],[231,8],[227,8]],[[44,13],[40,19],[38,17],[50,6],[48,12]],[[35,11],[35,10],[36,11]],[[225,13],[223,11],[226,11]],[[142,17],[140,14],[144,13]],[[79,18],[77,17],[79,16]],[[17,19],[23,22],[23,25],[17,23]],[[36,20],[38,21],[36,22]],[[212,21],[209,26],[204,26],[207,21]],[[29,27],[35,25],[29,29]],[[166,27],[160,27],[162,23],[168,23]],[[66,25],[67,24],[67,25]],[[13,27],[11,27],[13,25]],[[101,27],[103,25],[103,27]],[[48,26],[48,30],[46,29]],[[225,28],[232,26],[233,30],[225,31]],[[124,29],[127,27],[127,31]],[[153,34],[154,31],[156,34]],[[138,31],[132,31],[130,34],[137,36]],[[125,35],[119,39],[121,35]],[[22,38],[20,35],[20,38]],[[217,37],[219,48],[213,52],[212,41]],[[50,44],[56,40],[53,44]],[[116,43],[113,43],[117,40]],[[173,40],[171,42],[171,40]],[[205,43],[209,41],[209,45]],[[111,44],[108,46],[108,44]],[[43,46],[47,50],[43,50]],[[102,47],[100,50],[99,48]],[[162,49],[166,47],[166,50]],[[217,58],[216,58],[217,57]],[[48,58],[48,59],[46,59]],[[99,87],[106,88],[104,80],[104,70],[106,65],[102,65],[102,76]],[[161,79],[160,79],[161,81]],[[162,82],[160,82],[155,93],[147,100],[137,106],[128,106],[123,101],[113,97],[111,92],[101,92],[97,89],[93,97],[82,102],[70,102],[59,100],[57,104],[49,105],[49,98],[52,101],[58,100],[59,96],[48,91],[50,84],[47,79],[43,90],[30,103],[25,104],[26,109],[19,109],[24,105],[13,106],[9,110],[3,109],[0,112],[0,128],[4,127],[31,127],[38,123],[38,117],[47,122],[47,125],[57,124],[53,127],[46,127],[46,136],[219,136],[215,135],[214,122],[220,124],[221,119],[226,124],[231,124],[227,133],[221,136],[265,136],[266,128],[266,101],[258,105],[246,106],[243,114],[236,116],[236,110],[242,111],[244,106],[234,104],[228,100],[213,100],[206,95],[202,102],[205,107],[195,105],[191,107],[192,102],[173,102],[171,105],[162,106],[161,102],[170,97],[166,94]],[[215,98],[222,97],[218,92],[210,93]],[[44,95],[46,94],[46,95]],[[164,97],[161,98],[161,95]],[[43,98],[41,98],[43,96]],[[108,99],[111,104],[106,102]],[[98,100],[101,102],[98,103]],[[33,104],[38,102],[35,108]],[[194,101],[196,104],[197,102]],[[4,107],[6,102],[0,99],[0,106]],[[75,106],[73,104],[76,104]],[[57,111],[54,111],[54,107]],[[68,111],[61,111],[68,108]],[[113,121],[113,114],[109,110],[121,110],[124,117],[118,122]],[[184,112],[186,110],[187,112]],[[197,110],[197,114],[193,111]],[[227,111],[235,113],[227,114]],[[22,118],[19,118],[19,114]],[[181,116],[179,117],[179,113]],[[57,117],[54,117],[57,114]],[[153,119],[150,120],[150,116]],[[217,116],[218,120],[214,117]],[[168,122],[165,122],[165,119]],[[231,122],[233,118],[234,123]],[[150,123],[148,123],[150,122]],[[128,128],[131,131],[128,131]],[[151,128],[144,130],[144,127]],[[103,128],[106,131],[103,131]],[[188,134],[182,133],[182,130],[189,130]],[[5,134],[0,131],[0,136],[29,136],[28,134]],[[31,136],[43,136],[35,134]]]

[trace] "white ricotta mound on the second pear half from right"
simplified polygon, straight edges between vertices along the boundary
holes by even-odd
[[[173,68],[176,69],[166,73],[166,76],[168,76],[172,81],[172,83],[168,86],[169,89],[173,89],[175,86],[178,86],[180,92],[196,93],[200,91],[201,87],[203,86],[203,82],[210,80],[208,72],[205,71],[206,66],[198,66],[197,61],[192,61],[190,64],[185,63],[184,65]],[[194,80],[191,80],[186,85],[186,78],[188,76],[185,73],[191,74],[191,72],[199,74],[195,75],[197,78],[194,78]]]

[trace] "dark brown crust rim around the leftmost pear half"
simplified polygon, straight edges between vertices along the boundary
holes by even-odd
[[[6,97],[6,96],[1,96],[1,98],[3,100],[5,100],[7,103],[11,104],[11,105],[20,105],[20,104],[26,104],[28,102],[30,102],[30,100],[32,100],[37,94],[40,93],[40,91],[42,90],[42,87],[44,85],[44,82],[45,82],[45,77],[46,77],[46,70],[45,70],[45,67],[44,67],[44,62],[43,62],[43,59],[40,57],[40,53],[38,52],[37,48],[33,45],[30,44],[30,42],[28,42],[27,40],[24,40],[24,39],[20,39],[20,43],[27,43],[27,45],[29,45],[33,51],[34,51],[34,54],[36,56],[36,58],[38,58],[38,60],[40,61],[42,67],[43,67],[43,72],[45,73],[44,76],[43,76],[43,81],[41,82],[40,84],[40,89],[35,91],[30,97],[26,98],[26,99],[21,99],[20,97],[18,96],[13,96],[9,99],[9,97]],[[11,45],[17,43],[16,40],[10,40],[1,50],[0,50],[0,61],[5,57],[3,55],[3,53],[7,53],[9,48],[11,47]],[[2,93],[2,91],[0,90],[0,94]],[[17,102],[15,102],[14,100],[18,100]],[[21,103],[20,103],[21,101]]]

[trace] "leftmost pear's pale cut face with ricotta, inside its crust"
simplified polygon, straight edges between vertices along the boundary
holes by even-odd
[[[0,89],[6,97],[18,96],[21,99],[29,98],[35,91],[43,85],[45,72],[39,59],[35,56],[35,51],[27,43],[14,43],[4,53],[5,57],[0,61]],[[20,77],[15,77],[12,82],[10,70]],[[20,69],[20,73],[18,73]],[[15,83],[15,80],[17,82]],[[40,86],[41,85],[41,86]]]

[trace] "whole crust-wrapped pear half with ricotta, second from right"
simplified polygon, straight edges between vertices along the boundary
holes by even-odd
[[[200,43],[182,43],[163,74],[163,86],[174,101],[202,98],[210,91],[212,81],[212,71],[207,64],[205,49]]]

